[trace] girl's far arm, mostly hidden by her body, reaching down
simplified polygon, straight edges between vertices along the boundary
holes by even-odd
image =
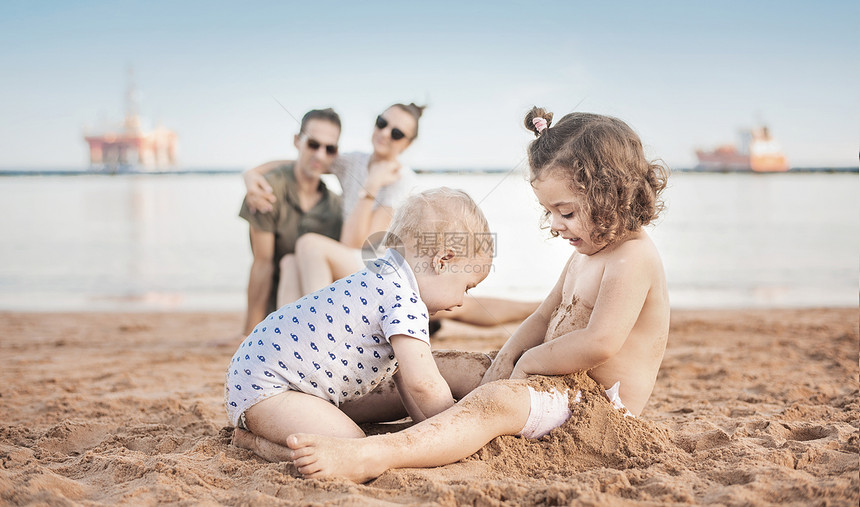
[[[574,254],[575,255],[575,254]],[[487,369],[484,374],[481,384],[492,382],[503,378],[509,378],[514,370],[514,365],[525,353],[525,351],[540,345],[546,337],[547,327],[552,318],[552,313],[561,305],[561,293],[564,288],[564,280],[567,277],[567,272],[570,269],[570,263],[573,261],[574,255],[571,255],[564,265],[564,269],[559,276],[555,286],[550,291],[543,303],[531,314],[523,323],[514,331],[514,334],[508,338],[502,350],[493,359],[493,364]]]

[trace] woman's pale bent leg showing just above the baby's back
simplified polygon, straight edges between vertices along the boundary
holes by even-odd
[[[364,268],[354,248],[314,232],[296,241],[296,258],[303,296]]]

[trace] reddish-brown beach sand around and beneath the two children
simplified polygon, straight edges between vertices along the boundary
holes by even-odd
[[[305,480],[230,445],[234,350],[209,343],[241,318],[0,313],[0,503],[860,502],[856,308],[675,311],[638,420],[586,403],[540,441],[498,438],[366,485]],[[435,346],[489,351],[514,328],[446,322]]]

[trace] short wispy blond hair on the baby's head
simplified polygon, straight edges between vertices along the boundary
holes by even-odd
[[[435,246],[439,248],[455,247],[457,242],[460,242],[457,246],[462,247],[464,234],[468,255],[492,256],[495,246],[481,208],[462,190],[438,187],[410,196],[398,208],[383,244],[388,248],[400,244],[420,245],[422,238],[429,235],[436,239]],[[425,243],[424,246],[429,245]]]

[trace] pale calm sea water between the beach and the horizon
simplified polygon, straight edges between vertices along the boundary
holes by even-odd
[[[332,182],[332,180],[328,180]],[[647,230],[676,308],[856,306],[856,173],[676,173]],[[538,300],[572,247],[519,170],[429,173],[496,237],[475,295]],[[336,182],[333,186],[336,186]],[[251,265],[238,173],[0,177],[0,310],[241,311]]]

